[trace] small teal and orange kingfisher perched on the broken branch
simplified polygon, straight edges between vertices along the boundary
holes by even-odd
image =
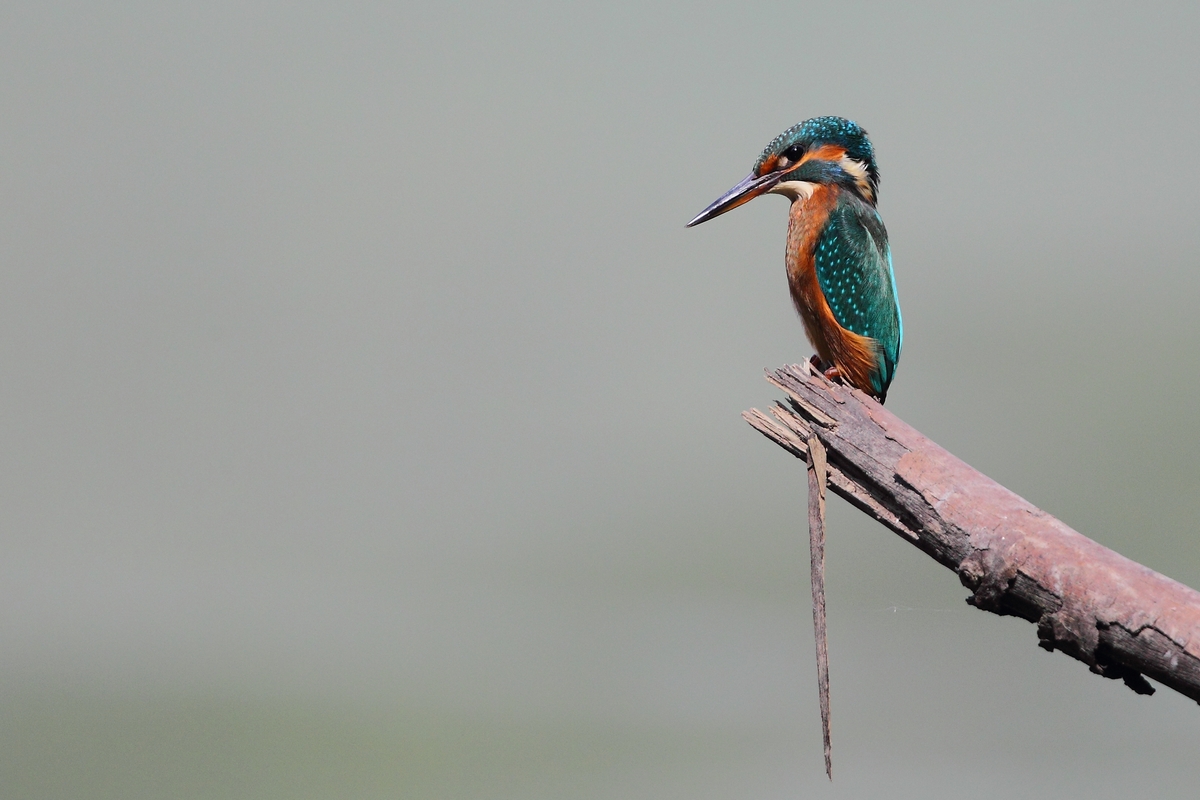
[[[750,174],[688,227],[760,194],[790,199],[787,285],[817,351],[814,362],[830,380],[882,403],[900,360],[904,323],[888,231],[875,207],[878,188],[866,131],[840,116],[817,116],[772,139]]]

